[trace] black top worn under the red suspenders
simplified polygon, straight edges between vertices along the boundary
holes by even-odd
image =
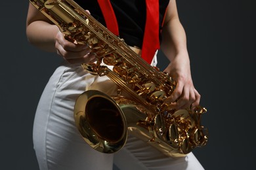
[[[89,10],[91,15],[106,26],[104,17],[96,0],[75,0],[83,9]],[[144,27],[146,23],[145,0],[111,0],[119,27],[119,37],[130,46],[142,47]],[[163,16],[169,0],[159,0],[160,31]],[[161,34],[160,34],[161,42]]]

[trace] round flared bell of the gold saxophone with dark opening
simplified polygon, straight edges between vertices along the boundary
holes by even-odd
[[[99,152],[117,152],[127,140],[123,111],[112,97],[102,92],[81,93],[75,102],[74,118],[84,141]]]

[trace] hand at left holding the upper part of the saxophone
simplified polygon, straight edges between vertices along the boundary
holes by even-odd
[[[60,31],[55,37],[55,48],[57,54],[62,56],[68,63],[93,63],[96,61],[96,54],[91,54],[91,49],[87,44],[77,44],[65,39]]]

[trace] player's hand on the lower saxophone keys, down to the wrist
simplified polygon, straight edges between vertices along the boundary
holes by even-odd
[[[165,103],[169,103],[174,109],[188,109],[190,106],[194,109],[200,103],[200,94],[192,82],[188,56],[181,56],[187,54],[179,55],[163,71],[177,82],[174,92],[165,99]]]

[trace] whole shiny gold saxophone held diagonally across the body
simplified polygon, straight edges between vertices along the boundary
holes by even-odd
[[[118,95],[88,90],[77,98],[75,124],[91,147],[100,152],[116,152],[123,147],[129,133],[167,156],[182,157],[207,143],[207,129],[200,125],[206,109],[198,106],[194,110],[175,110],[163,102],[175,89],[170,76],[146,63],[123,39],[74,1],[30,0],[30,3],[56,24],[67,39],[89,45],[97,61],[83,64],[87,71],[106,75],[119,87]],[[122,92],[129,97],[121,95]]]

